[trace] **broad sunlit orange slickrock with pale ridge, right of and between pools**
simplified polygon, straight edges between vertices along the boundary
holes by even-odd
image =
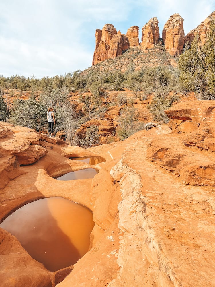
[[[18,164],[21,175],[1,189],[1,218],[50,196],[93,211],[90,249],[58,287],[215,286],[213,102],[178,103],[166,111],[169,127],[158,125],[87,150],[41,138],[48,153],[34,164]],[[4,133],[6,125],[0,124]],[[10,133],[0,143],[13,137]],[[99,173],[93,179],[53,179],[89,166],[68,158],[76,154],[102,156],[106,162],[94,166]]]

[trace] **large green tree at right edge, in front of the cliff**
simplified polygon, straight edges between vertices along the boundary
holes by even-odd
[[[206,44],[202,46],[197,35],[189,49],[186,47],[179,58],[180,82],[186,90],[194,91],[204,100],[215,99],[215,23],[207,33]]]

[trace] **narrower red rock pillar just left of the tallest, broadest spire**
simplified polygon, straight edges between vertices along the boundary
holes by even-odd
[[[156,17],[151,18],[146,25],[142,27],[142,43],[144,49],[154,48],[154,44],[159,41],[158,20]]]

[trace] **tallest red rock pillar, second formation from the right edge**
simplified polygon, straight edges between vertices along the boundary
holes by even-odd
[[[165,49],[170,55],[180,55],[184,46],[183,18],[179,14],[173,14],[165,23],[162,39]]]

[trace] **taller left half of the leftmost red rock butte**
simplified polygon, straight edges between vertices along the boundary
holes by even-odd
[[[112,24],[105,24],[102,30],[96,30],[95,52],[92,65],[108,59],[110,40],[113,38],[114,34],[117,34],[117,32]]]

